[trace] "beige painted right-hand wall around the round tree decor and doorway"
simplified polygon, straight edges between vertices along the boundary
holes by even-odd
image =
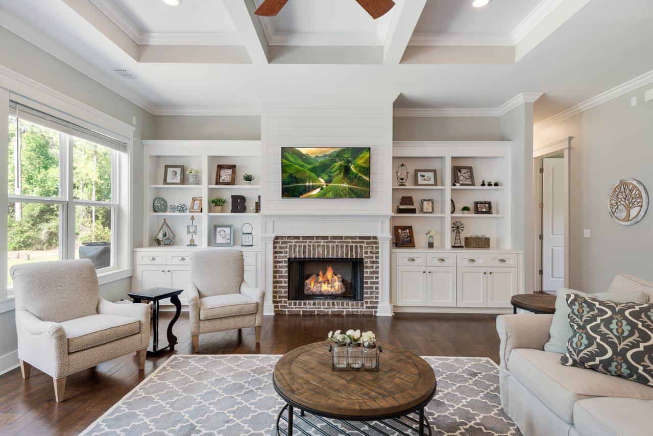
[[[653,102],[637,89],[535,132],[535,148],[574,136],[571,142],[569,285],[606,290],[616,273],[653,281],[653,211],[633,226],[614,223],[606,201],[613,183],[639,179],[653,195]],[[638,104],[631,107],[631,97]],[[583,230],[592,231],[584,238]]]

